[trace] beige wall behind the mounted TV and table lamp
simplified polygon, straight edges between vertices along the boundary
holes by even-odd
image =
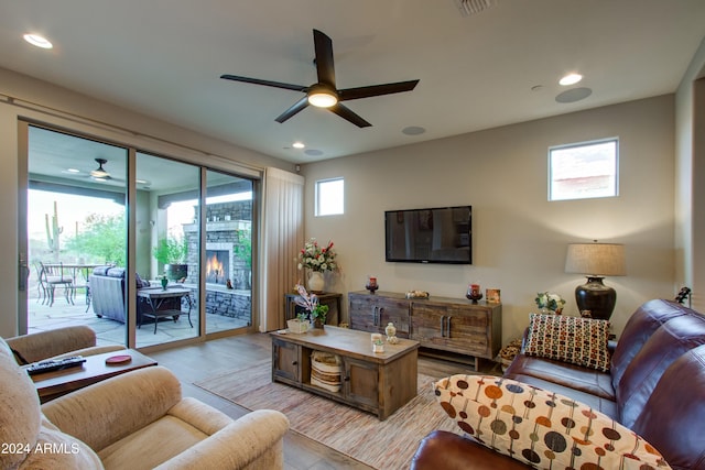
[[[364,289],[369,274],[381,291],[464,297],[469,282],[500,288],[505,340],[521,334],[539,291],[561,294],[565,311],[577,315],[583,277],[564,273],[567,243],[625,243],[628,275],[606,280],[617,289],[619,332],[641,303],[677,292],[673,122],[668,95],[307,164],[306,237],[336,243],[344,272],[328,288],[344,294]],[[549,146],[611,136],[620,142],[619,197],[549,203]],[[314,217],[314,182],[337,176],[345,178],[345,215]],[[474,208],[473,265],[384,262],[384,210],[466,204]]]

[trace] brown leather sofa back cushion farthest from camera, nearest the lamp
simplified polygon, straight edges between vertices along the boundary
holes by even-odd
[[[649,300],[637,308],[625,325],[617,348],[612,352],[610,367],[612,386],[615,389],[619,386],[621,376],[633,357],[661,325],[692,311],[674,302],[662,299]]]

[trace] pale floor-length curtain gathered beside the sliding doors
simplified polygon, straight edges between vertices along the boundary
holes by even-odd
[[[279,168],[264,171],[260,331],[285,328],[284,294],[299,276],[304,244],[304,177]]]

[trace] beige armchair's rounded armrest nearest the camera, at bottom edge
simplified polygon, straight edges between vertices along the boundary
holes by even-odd
[[[283,437],[288,429],[289,419],[280,412],[251,412],[156,469],[241,469],[250,468],[252,462],[257,462],[252,468],[283,468]]]

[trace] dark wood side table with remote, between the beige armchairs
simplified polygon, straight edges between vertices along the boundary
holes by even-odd
[[[128,354],[130,362],[107,364],[106,359]],[[32,375],[40,402],[46,403],[69,392],[137,369],[156,365],[156,361],[133,349],[86,356],[82,367]]]

